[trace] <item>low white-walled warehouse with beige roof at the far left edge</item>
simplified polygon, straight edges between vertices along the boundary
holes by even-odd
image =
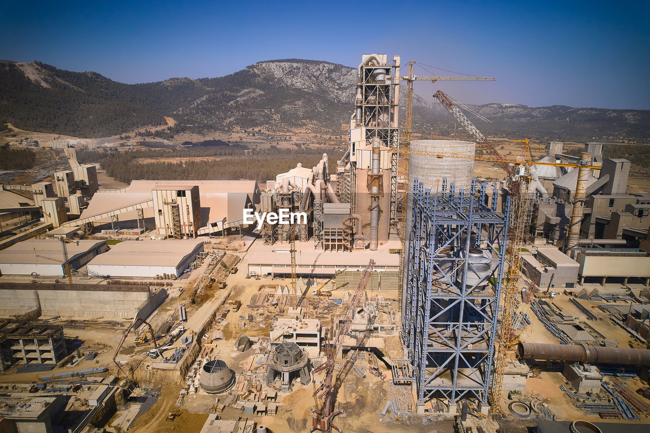
[[[106,241],[66,244],[70,269],[79,269],[109,249]],[[29,239],[0,251],[0,272],[10,275],[64,276],[64,256],[58,239]]]

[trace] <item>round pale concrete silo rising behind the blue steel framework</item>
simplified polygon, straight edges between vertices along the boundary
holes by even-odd
[[[424,184],[425,189],[430,189],[432,194],[437,194],[442,188],[442,181],[447,177],[447,185],[452,182],[456,185],[456,193],[459,189],[469,190],[472,185],[472,174],[474,171],[474,151],[476,144],[460,140],[416,140],[411,141],[411,151],[426,151],[433,153],[459,153],[463,158],[437,157],[433,155],[409,154],[408,183],[404,185],[407,194],[406,204],[406,242],[404,243],[404,257],[408,257],[409,237],[411,233],[411,213],[413,211],[413,181]],[[404,279],[406,284],[408,276],[408,260],[404,260]],[[402,290],[402,311],[406,311],[406,290]]]

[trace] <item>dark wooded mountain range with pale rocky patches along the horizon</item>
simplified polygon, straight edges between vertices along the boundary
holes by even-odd
[[[163,116],[170,116],[179,122],[170,133],[272,126],[338,135],[353,109],[355,73],[340,64],[286,59],[258,62],[225,77],[127,85],[95,72],[0,61],[0,122],[30,131],[107,137],[164,125]],[[466,113],[490,136],[565,141],[650,136],[650,111],[498,103],[468,107],[508,130]],[[415,133],[459,133],[450,114],[422,98],[414,99],[413,113]]]

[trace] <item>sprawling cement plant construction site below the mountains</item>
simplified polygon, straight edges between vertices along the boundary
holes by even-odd
[[[495,79],[416,64],[363,55],[342,156],[266,183],[51,144],[3,185],[0,432],[647,431],[650,191],[440,90],[466,138],[411,140],[414,82]]]

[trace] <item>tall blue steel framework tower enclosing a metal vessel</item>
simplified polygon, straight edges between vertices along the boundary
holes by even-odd
[[[413,182],[402,338],[414,367],[418,404],[432,397],[487,404],[510,197],[500,215],[496,190],[491,207],[485,204],[485,184],[475,191],[476,179],[469,194],[460,189],[457,196],[454,183],[447,192],[447,179],[440,196],[417,178]],[[481,281],[475,278],[476,262],[466,258],[476,248],[485,257],[483,275],[489,272]]]

